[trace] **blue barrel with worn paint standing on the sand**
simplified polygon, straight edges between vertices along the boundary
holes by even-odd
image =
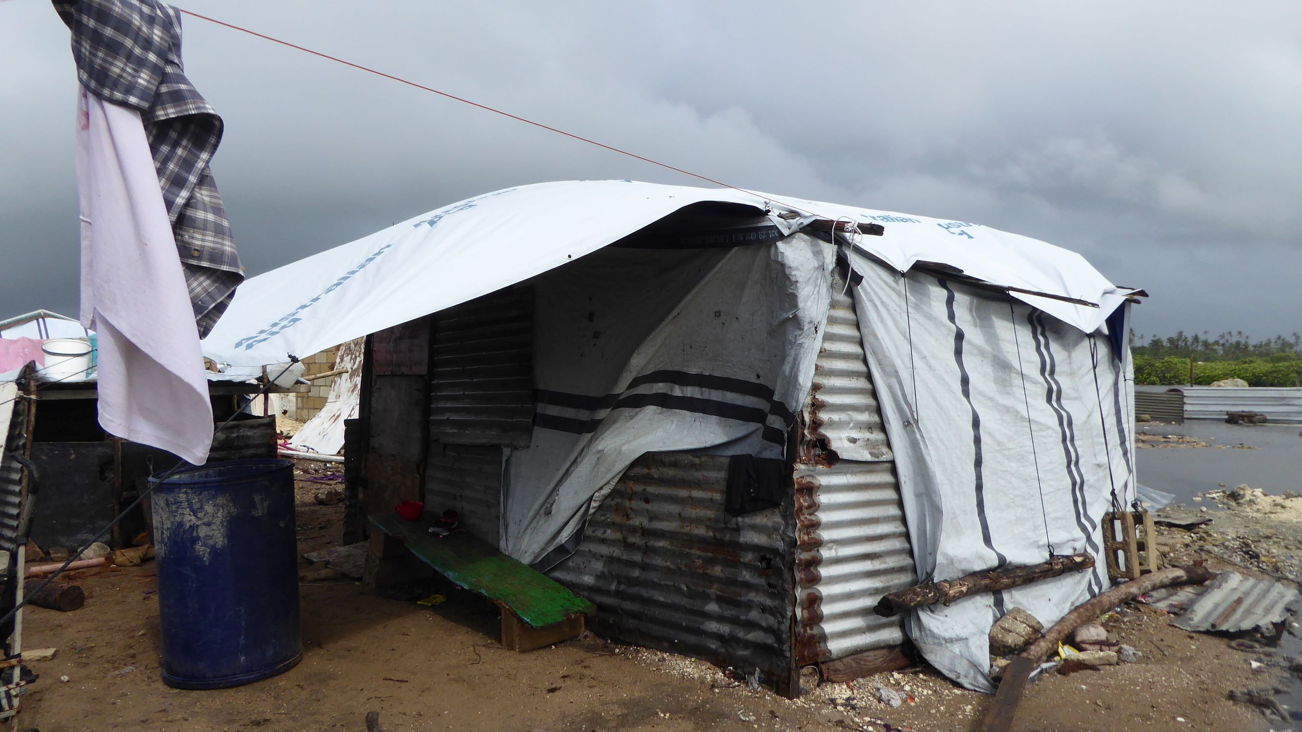
[[[294,465],[230,460],[180,470],[154,508],[163,681],[224,689],[302,659]]]

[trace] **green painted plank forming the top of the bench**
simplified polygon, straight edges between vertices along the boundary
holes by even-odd
[[[411,554],[457,585],[516,612],[534,628],[560,623],[596,607],[547,574],[514,560],[466,531],[435,537],[424,521],[396,513],[371,516],[371,524],[401,541]]]

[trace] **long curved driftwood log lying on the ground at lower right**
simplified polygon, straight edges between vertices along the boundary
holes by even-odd
[[[995,693],[995,701],[991,702],[990,709],[986,711],[986,719],[978,729],[980,732],[1006,732],[1012,727],[1013,715],[1017,714],[1017,702],[1022,698],[1022,690],[1026,688],[1026,681],[1030,679],[1031,672],[1044,663],[1044,659],[1057,650],[1057,645],[1081,625],[1094,623],[1104,612],[1142,594],[1172,585],[1199,585],[1213,576],[1212,570],[1200,564],[1160,569],[1151,574],[1144,574],[1138,580],[1131,580],[1125,585],[1117,585],[1064,615],[1062,620],[1055,623],[1052,628],[1044,632],[1044,636],[1039,641],[1031,643],[1004,668],[999,690]]]

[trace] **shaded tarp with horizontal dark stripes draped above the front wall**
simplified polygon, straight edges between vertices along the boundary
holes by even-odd
[[[534,280],[538,412],[533,444],[508,458],[503,550],[543,567],[566,556],[562,542],[646,452],[783,457],[833,258],[796,234],[609,249]]]

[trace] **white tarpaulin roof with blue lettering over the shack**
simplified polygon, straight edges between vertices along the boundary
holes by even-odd
[[[1079,254],[967,221],[732,189],[564,181],[470,198],[249,279],[203,353],[236,366],[316,353],[527,280],[702,202],[767,210],[784,229],[811,218],[879,223],[884,236],[857,242],[896,270],[939,263],[996,285],[1098,305],[1010,293],[1085,332],[1133,292],[1118,290]],[[798,218],[777,216],[784,212]]]

